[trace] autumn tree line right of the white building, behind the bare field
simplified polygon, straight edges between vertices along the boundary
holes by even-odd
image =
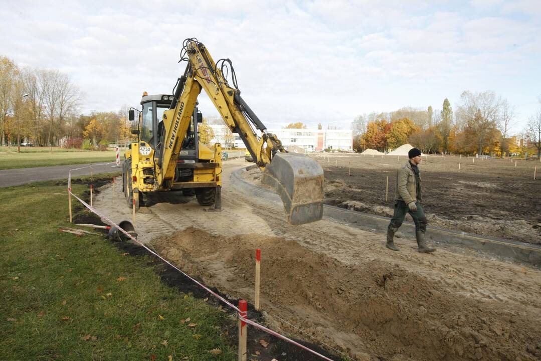
[[[516,116],[516,107],[493,91],[466,90],[454,111],[445,99],[441,110],[432,106],[426,110],[406,107],[391,113],[358,115],[352,124],[353,148],[386,152],[410,143],[423,153],[537,154],[539,157],[541,107],[529,117],[520,134],[511,135]]]

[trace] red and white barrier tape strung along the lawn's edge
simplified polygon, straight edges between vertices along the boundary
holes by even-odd
[[[83,168],[88,168],[88,167],[83,167]],[[82,168],[77,168],[77,169],[82,169]],[[75,169],[73,169],[75,170]],[[269,334],[272,334],[273,336],[275,337],[278,337],[282,340],[285,340],[286,342],[289,342],[295,346],[298,346],[300,347],[301,349],[303,350],[306,350],[308,352],[311,352],[313,353],[314,355],[316,356],[319,356],[321,357],[322,359],[324,360],[327,360],[327,361],[334,361],[326,356],[323,356],[321,355],[320,353],[312,350],[312,349],[309,349],[308,347],[304,346],[304,345],[301,345],[300,343],[298,342],[295,342],[294,340],[292,340],[291,338],[288,338],[286,336],[283,336],[282,334],[276,332],[276,331],[273,331],[271,329],[267,329],[267,327],[265,326],[262,326],[258,323],[255,323],[254,321],[252,320],[249,320],[247,319],[246,317],[243,317],[246,315],[246,313],[242,312],[239,310],[239,307],[236,307],[235,305],[233,305],[232,303],[230,303],[228,300],[226,300],[225,298],[221,297],[219,294],[217,294],[216,292],[210,290],[210,288],[208,288],[207,286],[201,284],[199,281],[193,279],[192,277],[190,277],[188,274],[184,273],[182,270],[180,270],[180,268],[176,267],[175,265],[171,264],[171,262],[169,262],[168,260],[164,259],[163,257],[161,257],[161,255],[157,254],[156,252],[154,252],[153,250],[151,250],[150,248],[148,248],[147,246],[145,246],[144,244],[142,244],[140,241],[138,241],[136,238],[134,238],[131,234],[129,234],[128,232],[124,231],[124,229],[120,228],[117,224],[115,224],[115,222],[111,221],[107,216],[105,216],[104,214],[98,212],[94,207],[91,207],[87,202],[83,201],[81,198],[79,198],[78,196],[76,196],[74,193],[71,193],[71,170],[70,170],[70,175],[68,177],[68,192],[69,194],[71,194],[72,196],[74,196],[78,201],[81,202],[82,205],[84,205],[85,207],[87,207],[88,209],[90,209],[90,211],[94,212],[95,214],[97,214],[98,216],[100,216],[102,219],[104,219],[105,221],[107,221],[110,225],[113,225],[115,226],[119,231],[121,231],[122,233],[124,233],[127,237],[129,237],[131,240],[133,240],[134,242],[136,242],[138,245],[142,246],[144,249],[146,249],[148,252],[150,252],[151,254],[154,254],[157,258],[161,259],[162,261],[166,262],[169,266],[175,268],[175,270],[179,271],[180,273],[182,273],[183,275],[185,275],[186,277],[188,277],[190,280],[194,281],[194,283],[196,283],[197,285],[201,286],[202,288],[204,288],[204,290],[206,290],[207,292],[209,292],[210,294],[212,294],[214,297],[216,297],[217,299],[221,300],[223,303],[225,303],[226,305],[228,305],[229,307],[232,307],[232,309],[234,309],[238,314],[239,314],[239,319],[243,322],[246,322],[248,325],[252,325],[254,327],[256,327],[257,329],[260,329],[261,331],[265,331]]]

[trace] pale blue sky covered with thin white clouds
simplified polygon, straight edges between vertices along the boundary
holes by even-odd
[[[541,1],[0,0],[0,55],[59,69],[84,91],[81,111],[138,107],[169,93],[196,37],[233,61],[244,99],[267,127],[349,129],[354,117],[410,106],[456,108],[464,90],[517,107],[519,132],[541,95]],[[217,115],[206,95],[203,113]]]

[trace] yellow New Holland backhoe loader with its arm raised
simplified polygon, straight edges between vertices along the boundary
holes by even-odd
[[[263,185],[282,200],[290,224],[320,220],[323,214],[323,170],[314,160],[287,153],[240,96],[229,59],[214,62],[195,38],[184,40],[181,61],[187,61],[173,95],[143,94],[138,141],[124,154],[123,189],[128,205],[139,207],[147,192],[194,192],[201,205],[221,207],[221,147],[199,142],[197,97],[203,89],[233,133],[239,134],[256,165]],[[229,86],[224,73],[230,72]],[[138,110],[136,110],[138,111]],[[135,111],[129,111],[135,120]],[[255,128],[255,129],[254,129]],[[256,133],[256,130],[260,134]]]

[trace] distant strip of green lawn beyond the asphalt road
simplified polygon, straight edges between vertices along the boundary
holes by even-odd
[[[21,153],[17,153],[17,148],[11,147],[10,152],[7,149],[7,147],[0,148],[0,169],[114,162],[116,157],[114,150],[100,152],[76,149],[68,151],[67,149],[52,148],[51,153],[49,148],[25,147],[21,148]],[[120,156],[123,157],[123,155],[124,152],[121,150]]]

